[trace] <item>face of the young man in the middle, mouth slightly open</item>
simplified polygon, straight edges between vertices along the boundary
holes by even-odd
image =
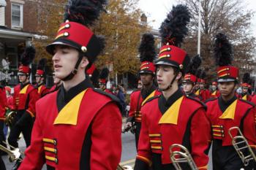
[[[159,89],[166,89],[175,77],[173,67],[159,65],[157,66],[157,84]]]

